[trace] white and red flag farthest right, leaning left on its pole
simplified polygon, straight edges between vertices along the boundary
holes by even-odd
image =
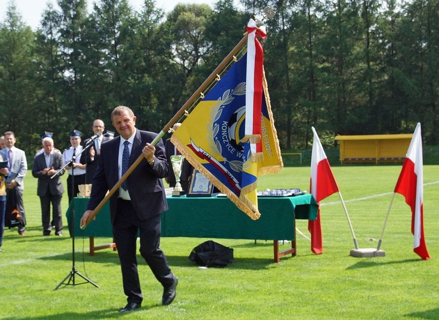
[[[422,137],[420,123],[416,126],[412,141],[405,156],[401,173],[395,187],[396,193],[405,197],[405,202],[412,209],[413,251],[422,258],[430,259],[424,240],[423,194],[424,178],[422,173]]]

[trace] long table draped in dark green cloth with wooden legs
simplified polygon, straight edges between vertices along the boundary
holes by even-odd
[[[109,204],[106,203],[85,229],[80,229],[80,218],[89,198],[75,198],[75,236],[112,237]],[[273,240],[274,260],[286,254],[296,255],[295,219],[316,220],[318,205],[311,194],[294,197],[259,197],[260,218],[252,220],[226,197],[168,197],[168,211],[161,215],[162,237],[195,237],[222,239]],[[71,221],[71,204],[67,210]],[[72,234],[71,224],[69,231]],[[291,240],[291,248],[279,252],[279,240]],[[95,247],[90,243],[90,254],[113,247]]]

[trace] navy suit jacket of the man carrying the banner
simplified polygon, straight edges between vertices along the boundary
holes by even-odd
[[[139,158],[146,143],[151,143],[157,133],[140,131],[137,129],[130,154],[129,166]],[[87,210],[94,210],[105,197],[107,190],[113,188],[119,181],[118,158],[120,136],[103,143],[100,147],[98,168],[93,177],[93,187]],[[146,220],[168,209],[162,178],[167,174],[168,162],[166,160],[164,145],[160,141],[156,144],[154,166],[143,158],[140,164],[128,176],[128,192],[131,203],[140,219]],[[110,217],[114,223],[117,212],[117,199],[119,190],[110,198]]]

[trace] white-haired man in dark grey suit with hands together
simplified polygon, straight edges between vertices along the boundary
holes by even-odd
[[[38,178],[37,194],[41,202],[43,235],[48,236],[55,226],[55,235],[62,236],[61,198],[64,193],[60,176],[62,169],[54,178],[52,176],[63,167],[62,154],[55,152],[53,140],[45,137],[42,141],[44,152],[37,155],[32,165],[32,175]],[[50,222],[50,204],[52,203],[52,223]]]

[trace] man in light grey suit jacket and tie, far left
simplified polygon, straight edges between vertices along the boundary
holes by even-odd
[[[26,155],[24,151],[15,147],[16,143],[15,134],[12,131],[4,132],[4,143],[6,145],[5,152],[8,155],[8,177],[4,179],[6,185],[6,203],[12,201],[12,197],[15,197],[17,203],[17,210],[21,215],[23,221],[17,225],[18,232],[24,236],[24,229],[26,225],[26,217],[24,215],[23,205],[23,179],[27,172]],[[15,192],[12,192],[14,190]]]

